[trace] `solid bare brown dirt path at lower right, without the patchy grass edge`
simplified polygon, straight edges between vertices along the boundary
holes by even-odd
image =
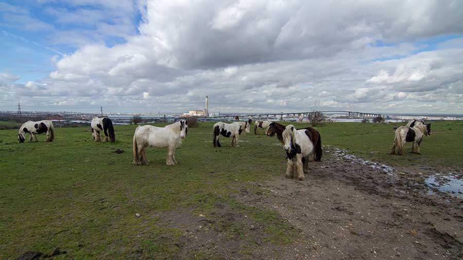
[[[295,243],[265,259],[461,259],[463,203],[449,195],[429,195],[423,175],[387,174],[326,153],[312,163],[306,181],[281,178],[253,184],[270,195],[242,191],[247,205],[278,211],[300,231]],[[403,169],[402,169],[403,170]],[[416,170],[416,169],[415,169]]]

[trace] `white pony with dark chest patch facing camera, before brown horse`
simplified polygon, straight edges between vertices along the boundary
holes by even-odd
[[[309,157],[314,152],[310,132],[307,129],[296,130],[293,125],[288,125],[282,135],[283,148],[288,157],[284,176],[287,178],[295,177],[299,181],[304,181],[304,173],[309,172]]]

